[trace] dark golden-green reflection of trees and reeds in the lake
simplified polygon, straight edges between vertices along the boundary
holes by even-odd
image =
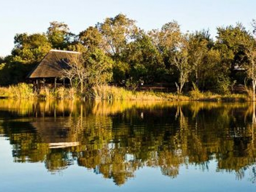
[[[176,178],[180,166],[256,181],[255,105],[207,102],[0,100],[0,135],[15,162],[55,173],[78,164],[118,185],[144,166]]]

